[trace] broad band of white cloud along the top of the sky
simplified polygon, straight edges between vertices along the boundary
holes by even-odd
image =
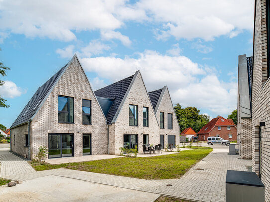
[[[0,31],[71,41],[76,32],[103,30],[105,40],[119,39],[129,46],[128,36],[115,30],[135,21],[155,23],[158,39],[208,41],[252,30],[253,5],[252,0],[1,0]]]

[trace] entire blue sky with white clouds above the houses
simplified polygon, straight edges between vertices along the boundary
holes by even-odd
[[[149,91],[211,117],[237,105],[238,55],[252,55],[252,0],[3,0],[0,108],[9,127],[76,53],[94,90],[141,70]]]

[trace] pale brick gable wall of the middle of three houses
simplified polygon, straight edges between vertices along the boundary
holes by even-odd
[[[138,105],[138,126],[129,126],[129,104]],[[148,107],[149,109],[149,127],[143,127],[143,107]],[[159,125],[140,73],[131,87],[115,125],[110,126],[110,133],[113,133],[111,128],[115,128],[115,135],[111,135],[115,139],[110,140],[111,154],[120,153],[119,148],[123,147],[124,134],[138,135],[138,151],[140,153],[143,152],[143,134],[149,135],[150,144],[159,144]]]

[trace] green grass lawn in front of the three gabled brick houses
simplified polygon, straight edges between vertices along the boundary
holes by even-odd
[[[30,164],[36,171],[67,168],[141,179],[175,179],[180,178],[212,150],[209,147],[200,147],[176,154],[145,158],[123,157],[57,165],[48,163],[40,165],[36,162]]]

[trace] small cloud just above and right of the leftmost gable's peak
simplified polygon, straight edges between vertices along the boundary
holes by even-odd
[[[81,49],[83,56],[90,57],[92,54],[102,54],[104,50],[109,50],[110,47],[106,44],[102,44],[99,41],[93,40],[86,47]]]

